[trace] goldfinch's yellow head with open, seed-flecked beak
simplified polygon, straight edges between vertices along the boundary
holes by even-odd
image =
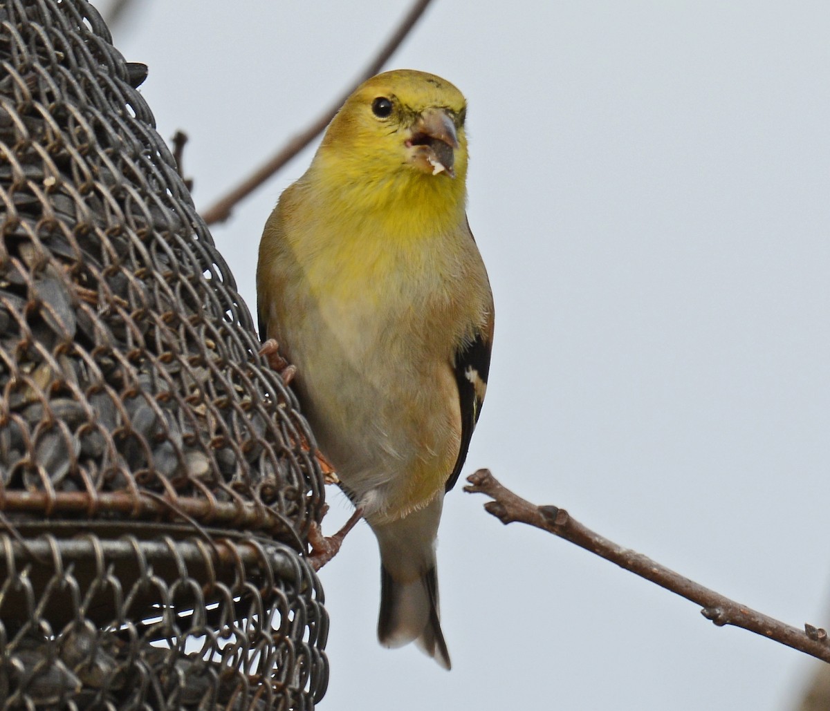
[[[466,101],[447,80],[415,70],[365,81],[334,117],[318,157],[356,188],[464,201]]]

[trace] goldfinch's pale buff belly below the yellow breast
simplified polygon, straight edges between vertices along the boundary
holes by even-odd
[[[325,304],[291,344],[312,431],[367,518],[394,520],[442,491],[458,454],[461,413],[447,356],[400,318]],[[309,327],[311,326],[311,327]]]

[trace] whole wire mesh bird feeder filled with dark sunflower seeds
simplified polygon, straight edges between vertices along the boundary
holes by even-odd
[[[295,399],[83,0],[0,2],[0,708],[312,709]]]

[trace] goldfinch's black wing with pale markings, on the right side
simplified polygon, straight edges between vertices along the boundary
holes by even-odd
[[[472,431],[476,428],[481,413],[481,403],[487,389],[487,374],[490,371],[490,351],[492,343],[492,322],[488,333],[478,331],[476,339],[462,346],[456,353],[453,370],[458,385],[458,398],[461,400],[461,447],[458,449],[456,466],[447,479],[444,491],[456,486],[461,467],[464,466],[467,450],[470,448]]]

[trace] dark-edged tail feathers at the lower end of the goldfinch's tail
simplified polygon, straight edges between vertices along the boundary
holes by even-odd
[[[433,566],[420,579],[401,583],[380,566],[380,616],[378,640],[398,647],[414,641],[444,669],[450,669],[450,653],[438,617],[438,576]]]

